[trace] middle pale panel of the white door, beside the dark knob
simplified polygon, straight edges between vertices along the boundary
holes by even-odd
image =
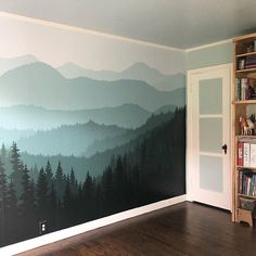
[[[221,153],[222,118],[200,118],[200,152]]]

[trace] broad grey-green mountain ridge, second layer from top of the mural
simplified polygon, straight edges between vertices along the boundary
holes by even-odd
[[[0,77],[2,105],[30,104],[52,110],[89,110],[138,104],[154,112],[166,104],[184,105],[184,88],[158,91],[141,80],[67,79],[48,64],[36,62]]]

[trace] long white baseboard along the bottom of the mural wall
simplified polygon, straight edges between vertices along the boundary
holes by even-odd
[[[18,253],[23,253],[25,251],[29,251],[46,244],[50,244],[63,239],[71,238],[73,235],[77,235],[87,231],[91,231],[93,229],[98,229],[107,225],[112,225],[128,218],[132,218],[139,215],[143,215],[156,209],[161,209],[174,204],[178,204],[187,201],[187,195],[180,195],[174,199],[163,200],[157,203],[149,204],[145,206],[141,206],[138,208],[129,209],[126,212],[121,212],[119,214],[111,215],[101,219],[92,220],[82,225],[78,225],[68,229],[63,229],[56,232],[52,232],[49,234],[44,234],[42,236],[38,236],[35,239],[30,239],[24,242],[20,242],[16,244],[8,245],[5,247],[0,248],[0,255],[2,256],[11,256]]]

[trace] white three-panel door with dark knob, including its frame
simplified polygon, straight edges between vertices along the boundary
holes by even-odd
[[[231,65],[188,75],[189,199],[231,209]]]

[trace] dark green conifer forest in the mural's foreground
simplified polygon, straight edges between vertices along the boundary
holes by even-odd
[[[0,246],[181,195],[184,191],[185,108],[154,128],[136,148],[112,157],[102,176],[85,167],[85,181],[61,163],[39,170],[21,161],[15,143],[0,157]]]

